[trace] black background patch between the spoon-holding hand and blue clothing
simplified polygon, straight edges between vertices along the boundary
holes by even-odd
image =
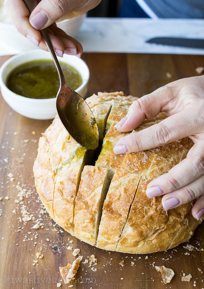
[[[102,0],[88,12],[88,17],[117,17],[122,0]]]

